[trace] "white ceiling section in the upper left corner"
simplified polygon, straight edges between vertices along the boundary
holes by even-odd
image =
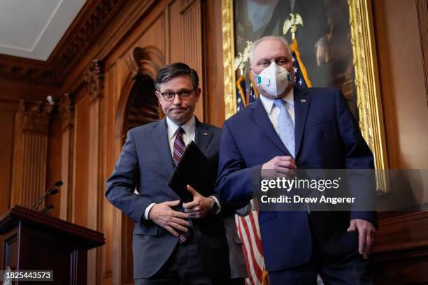
[[[45,61],[87,0],[0,0],[0,54]]]

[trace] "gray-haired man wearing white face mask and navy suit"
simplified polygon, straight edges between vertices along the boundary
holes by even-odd
[[[293,87],[283,38],[255,41],[250,61],[261,96],[224,122],[216,191],[225,203],[248,203],[253,184],[268,178],[262,170],[287,175],[294,169],[373,168],[341,92]],[[375,190],[370,182],[357,183],[358,189]],[[316,284],[318,274],[324,284],[372,284],[366,258],[376,224],[371,211],[260,211],[271,284]]]

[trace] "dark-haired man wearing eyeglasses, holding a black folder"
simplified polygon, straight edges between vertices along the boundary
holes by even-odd
[[[243,284],[247,273],[234,211],[214,195],[221,130],[194,116],[201,96],[197,72],[182,63],[164,66],[155,89],[165,118],[129,131],[107,182],[108,200],[136,222],[135,282]],[[212,189],[204,193],[213,196],[187,186],[193,200],[181,205],[167,183],[191,140],[210,163]]]

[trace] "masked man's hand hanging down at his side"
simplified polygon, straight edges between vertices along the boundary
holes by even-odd
[[[352,219],[347,231],[351,233],[355,230],[358,231],[358,252],[367,259],[374,245],[376,228],[364,219]]]

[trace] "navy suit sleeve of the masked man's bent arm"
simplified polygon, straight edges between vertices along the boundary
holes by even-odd
[[[259,184],[261,165],[246,168],[227,122],[222,129],[218,178],[215,186],[223,203],[243,207],[252,198],[252,185]]]

